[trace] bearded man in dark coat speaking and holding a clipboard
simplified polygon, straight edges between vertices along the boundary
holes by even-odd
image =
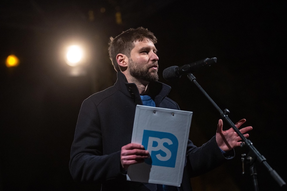
[[[110,38],[109,55],[117,82],[83,101],[71,147],[74,180],[101,183],[102,190],[192,190],[190,177],[203,174],[233,158],[241,138],[232,128],[223,131],[220,119],[214,137],[201,147],[188,140],[180,187],[126,180],[130,165],[141,163],[148,151],[131,143],[136,105],[180,109],[166,97],[170,87],[158,82],[157,39],[139,27]],[[242,119],[239,128],[246,120]],[[246,133],[252,127],[240,130]],[[248,137],[248,134],[244,134]]]

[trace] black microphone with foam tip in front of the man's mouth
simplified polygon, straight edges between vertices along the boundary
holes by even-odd
[[[210,66],[216,63],[217,58],[205,58],[200,61],[193,62],[191,64],[185,64],[183,66],[170,66],[163,70],[163,78],[166,81],[176,80],[181,77],[182,74],[192,73],[196,70],[203,68],[204,66]]]

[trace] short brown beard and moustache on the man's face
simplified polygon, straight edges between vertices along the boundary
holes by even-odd
[[[133,76],[136,79],[144,80],[147,82],[153,82],[153,81],[158,81],[158,70],[152,69],[151,71],[150,68],[152,66],[157,66],[158,68],[158,63],[153,62],[149,65],[140,65],[134,62],[132,59],[129,60],[129,72],[131,76]]]

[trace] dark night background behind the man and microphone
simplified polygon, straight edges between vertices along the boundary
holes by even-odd
[[[286,8],[286,1],[1,1],[0,190],[94,188],[74,183],[69,173],[78,112],[85,98],[115,83],[109,37],[139,26],[158,38],[169,97],[194,112],[190,139],[198,146],[209,140],[221,116],[186,76],[166,82],[162,71],[217,57],[193,73],[197,82],[234,123],[247,119],[249,140],[286,181]],[[86,50],[80,76],[71,76],[64,61],[71,43]],[[9,54],[18,56],[18,67],[6,68]],[[254,190],[250,175],[241,175],[248,150],[235,152],[235,159],[192,178],[194,190]],[[259,190],[280,190],[255,164]]]

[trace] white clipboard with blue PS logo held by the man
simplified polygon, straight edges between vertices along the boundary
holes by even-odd
[[[151,158],[130,165],[127,180],[180,186],[191,119],[191,111],[137,105],[131,142]]]

